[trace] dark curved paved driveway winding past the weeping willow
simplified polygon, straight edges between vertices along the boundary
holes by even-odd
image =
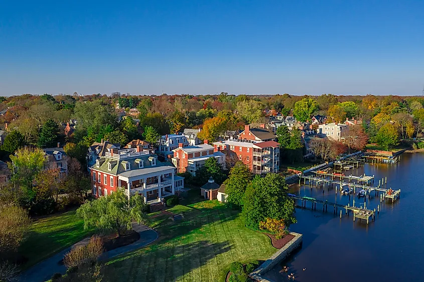
[[[112,249],[109,251],[104,252],[99,259],[104,260],[111,257],[114,257],[116,255],[144,247],[153,241],[155,241],[159,237],[159,233],[142,224],[134,224],[133,228],[135,231],[137,231],[140,234],[140,238],[133,242],[132,244],[122,246],[116,249]],[[38,264],[32,266],[30,269],[23,272],[21,275],[18,276],[18,281],[22,282],[44,282],[46,280],[49,280],[54,273],[62,273],[65,274],[66,272],[66,266],[61,263],[61,260],[63,259],[64,255],[71,250],[76,245],[81,244],[87,244],[89,241],[89,237],[79,241],[78,243],[75,243],[69,248],[66,248],[62,250],[61,252],[53,255],[52,257],[47,258],[46,260],[43,260],[42,262],[39,262]]]

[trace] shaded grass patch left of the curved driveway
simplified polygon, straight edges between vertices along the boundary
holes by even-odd
[[[75,211],[35,220],[28,239],[19,247],[20,254],[28,258],[22,268],[27,269],[86,237],[88,232],[84,230],[83,223]]]

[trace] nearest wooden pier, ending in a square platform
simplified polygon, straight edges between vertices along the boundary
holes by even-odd
[[[296,200],[300,200],[302,202],[301,203],[302,208],[306,208],[307,202],[311,202],[312,210],[317,209],[317,203],[323,205],[323,212],[328,210],[329,205],[334,207],[334,214],[336,214],[337,210],[340,208],[340,218],[342,218],[342,210],[345,209],[345,213],[347,215],[349,215],[349,213],[352,212],[353,221],[355,221],[356,218],[359,218],[359,219],[366,220],[366,222],[368,224],[370,219],[375,220],[375,209],[374,210],[367,209],[366,203],[364,203],[364,207],[362,207],[362,206],[356,207],[354,205],[350,206],[349,204],[343,205],[343,204],[339,204],[339,203],[332,203],[332,202],[329,202],[327,200],[325,200],[325,201],[317,200],[317,199],[311,198],[311,197],[298,197],[298,196],[291,195],[291,198],[296,199]],[[377,212],[378,213],[380,212],[380,206],[379,205],[378,205]]]

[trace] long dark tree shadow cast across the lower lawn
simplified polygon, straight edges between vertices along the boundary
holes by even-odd
[[[200,240],[181,245],[165,243],[117,258],[108,267],[109,272],[126,274],[124,279],[114,277],[118,281],[175,281],[230,249],[228,241],[211,243]],[[113,271],[110,271],[110,268],[113,268]],[[208,276],[202,270],[198,272],[201,276]],[[187,277],[186,280],[200,280],[196,273],[191,273],[193,276]]]

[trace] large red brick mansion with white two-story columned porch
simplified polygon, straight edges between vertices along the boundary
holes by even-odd
[[[142,194],[146,202],[161,202],[162,197],[177,194],[184,188],[184,177],[175,167],[158,161],[157,155],[142,146],[113,148],[89,167],[95,197],[107,196],[122,188],[126,195]]]

